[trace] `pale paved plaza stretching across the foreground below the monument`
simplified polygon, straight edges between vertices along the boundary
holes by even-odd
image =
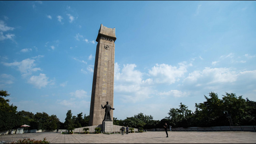
[[[19,139],[43,140],[50,144],[98,144],[98,143],[256,143],[256,132],[143,132],[129,134],[61,134],[38,132],[0,135],[0,142],[12,143]]]

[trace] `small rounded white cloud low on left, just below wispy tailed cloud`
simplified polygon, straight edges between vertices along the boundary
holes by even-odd
[[[40,73],[38,76],[31,76],[30,79],[27,81],[29,84],[35,85],[37,88],[46,87],[47,84],[50,83],[48,81],[48,77],[44,73]]]

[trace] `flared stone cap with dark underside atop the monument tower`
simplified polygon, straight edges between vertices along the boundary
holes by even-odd
[[[116,41],[116,32],[115,32],[115,28],[108,28],[106,26],[103,26],[103,24],[100,25],[100,28],[98,30],[98,36],[96,41],[98,42],[98,40],[100,39],[101,36],[103,37],[107,37],[110,39],[113,39],[113,41]]]

